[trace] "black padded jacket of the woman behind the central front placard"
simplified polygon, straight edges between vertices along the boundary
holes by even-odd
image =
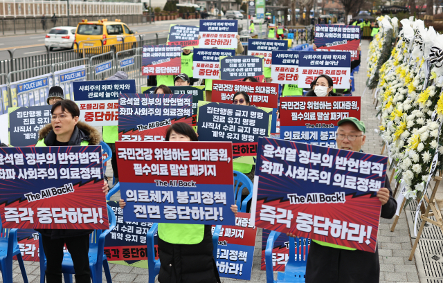
[[[199,244],[170,244],[159,238],[160,283],[219,283],[213,257],[211,226],[205,225]]]

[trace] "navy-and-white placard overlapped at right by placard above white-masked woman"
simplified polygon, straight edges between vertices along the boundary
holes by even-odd
[[[298,51],[272,51],[271,78],[274,84],[298,84]]]

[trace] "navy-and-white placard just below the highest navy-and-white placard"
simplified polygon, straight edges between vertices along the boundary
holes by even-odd
[[[194,78],[218,80],[221,56],[235,56],[235,50],[195,48],[192,58]]]

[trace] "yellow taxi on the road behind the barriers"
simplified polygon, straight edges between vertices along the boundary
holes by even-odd
[[[136,42],[134,31],[130,30],[125,23],[122,23],[119,19],[116,21],[108,21],[107,19],[101,19],[98,21],[82,20],[78,23],[75,30],[75,42],[74,49],[76,48],[93,48],[102,46],[111,46],[114,44],[125,43],[125,49],[132,47],[129,42]]]

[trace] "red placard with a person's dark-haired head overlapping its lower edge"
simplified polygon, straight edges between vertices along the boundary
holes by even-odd
[[[252,106],[277,108],[278,84],[213,80],[212,102],[233,103],[234,94],[245,91]]]

